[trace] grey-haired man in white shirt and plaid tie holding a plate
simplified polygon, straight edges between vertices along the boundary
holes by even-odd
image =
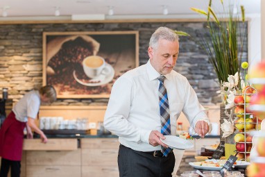
[[[200,137],[211,129],[205,109],[187,78],[173,71],[178,53],[178,35],[169,28],[157,28],[149,42],[150,59],[146,65],[126,72],[112,87],[104,126],[119,136],[119,176],[171,176],[175,157],[160,138],[176,135],[176,121],[181,112]],[[158,80],[161,76],[164,83]],[[161,85],[165,87],[164,102],[168,103],[163,110],[169,112],[167,118],[161,113],[164,103]],[[169,129],[163,128],[166,124]],[[168,130],[167,134],[164,129]],[[164,153],[162,149],[169,151]]]

